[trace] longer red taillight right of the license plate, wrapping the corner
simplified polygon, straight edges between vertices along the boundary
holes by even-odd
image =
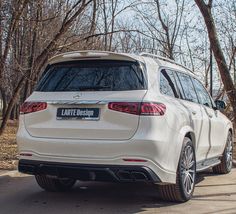
[[[144,116],[161,116],[166,111],[164,104],[152,102],[111,102],[108,108],[113,111]]]

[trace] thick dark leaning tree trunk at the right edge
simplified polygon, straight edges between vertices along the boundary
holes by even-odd
[[[234,87],[234,83],[231,78],[228,66],[226,64],[225,56],[223,54],[218,39],[215,22],[211,13],[212,1],[209,1],[209,4],[205,4],[203,0],[195,0],[195,2],[203,15],[208,31],[210,44],[220,71],[220,76],[224,84],[224,88],[229,98],[229,101],[231,103],[231,106],[233,108],[234,124],[236,124],[236,89]]]

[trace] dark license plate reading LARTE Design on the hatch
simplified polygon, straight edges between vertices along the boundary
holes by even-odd
[[[58,120],[99,120],[98,108],[58,108]]]

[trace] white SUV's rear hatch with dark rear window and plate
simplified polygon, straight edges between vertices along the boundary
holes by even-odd
[[[83,60],[53,64],[25,104],[26,108],[27,104],[29,108],[34,105],[33,112],[24,115],[25,126],[34,137],[129,139],[137,130],[139,116],[111,110],[109,103],[141,103],[146,91],[146,76],[137,62]],[[46,107],[38,111],[39,102]]]

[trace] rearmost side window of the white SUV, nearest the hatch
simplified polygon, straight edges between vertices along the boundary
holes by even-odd
[[[175,77],[172,71],[170,70],[161,70],[160,73],[160,91],[162,94],[179,97],[176,89]]]

